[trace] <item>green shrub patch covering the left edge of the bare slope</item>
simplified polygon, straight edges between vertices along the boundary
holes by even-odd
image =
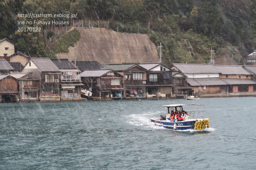
[[[68,31],[59,40],[53,43],[53,47],[49,51],[49,58],[56,58],[57,53],[68,53],[68,47],[74,47],[75,43],[80,39],[80,33],[74,29]]]

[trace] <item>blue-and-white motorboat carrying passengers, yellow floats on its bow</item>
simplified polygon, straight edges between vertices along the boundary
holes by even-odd
[[[149,118],[150,122],[155,125],[162,126],[173,130],[203,130],[209,128],[209,118],[204,119],[203,116],[198,118],[201,110],[184,111],[184,105],[201,105],[201,104],[170,104],[162,107],[166,108],[166,114],[160,117]],[[174,116],[173,113],[174,112]]]

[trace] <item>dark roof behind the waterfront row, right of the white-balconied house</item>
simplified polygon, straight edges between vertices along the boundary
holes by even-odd
[[[75,61],[72,61],[75,63]],[[102,65],[98,61],[76,61],[76,66],[84,72],[85,70],[101,69]]]

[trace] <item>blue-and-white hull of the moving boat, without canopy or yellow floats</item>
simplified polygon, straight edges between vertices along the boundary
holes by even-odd
[[[149,118],[149,121],[155,123],[155,125],[162,126],[167,129],[173,130],[188,130],[194,129],[194,124],[196,119],[188,120],[188,121],[169,121],[169,120],[157,120],[153,118]]]

